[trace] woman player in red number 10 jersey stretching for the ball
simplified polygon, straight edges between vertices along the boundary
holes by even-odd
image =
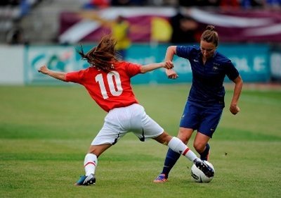
[[[157,68],[173,68],[171,61],[150,63],[141,66],[126,61],[119,61],[115,49],[116,41],[111,35],[105,35],[98,46],[84,54],[82,58],[90,64],[84,70],[63,73],[49,70],[41,66],[39,72],[65,82],[75,82],[83,85],[91,98],[105,111],[105,123],[98,135],[91,142],[89,152],[84,159],[85,175],[75,185],[93,185],[96,183],[96,166],[98,156],[114,145],[127,132],[133,132],[141,141],[152,138],[170,149],[182,154],[204,172],[212,177],[214,170],[199,159],[177,137],[171,137],[155,120],[146,113],[143,106],[138,104],[131,89],[131,78],[139,73],[147,73]]]

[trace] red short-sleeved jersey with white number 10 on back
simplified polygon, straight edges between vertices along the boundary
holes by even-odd
[[[131,88],[131,78],[141,73],[141,65],[119,61],[109,73],[93,67],[66,74],[66,82],[83,85],[92,99],[105,111],[138,103]]]

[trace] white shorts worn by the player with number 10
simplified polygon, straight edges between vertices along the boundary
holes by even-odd
[[[143,106],[132,104],[107,113],[103,128],[91,145],[115,144],[127,132],[133,132],[144,142],[145,139],[158,137],[164,129],[145,113]]]

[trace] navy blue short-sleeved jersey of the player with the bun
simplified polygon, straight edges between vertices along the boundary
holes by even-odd
[[[239,76],[230,59],[215,51],[214,56],[203,64],[200,47],[195,46],[178,46],[176,55],[190,62],[192,86],[188,102],[197,106],[224,106],[223,80],[226,75],[230,80]]]

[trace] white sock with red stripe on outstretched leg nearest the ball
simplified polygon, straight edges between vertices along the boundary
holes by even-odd
[[[185,144],[183,144],[183,142],[181,142],[181,140],[178,139],[178,137],[173,137],[168,143],[168,147],[173,151],[182,154],[192,162],[195,159],[199,159],[192,150],[190,150]]]

